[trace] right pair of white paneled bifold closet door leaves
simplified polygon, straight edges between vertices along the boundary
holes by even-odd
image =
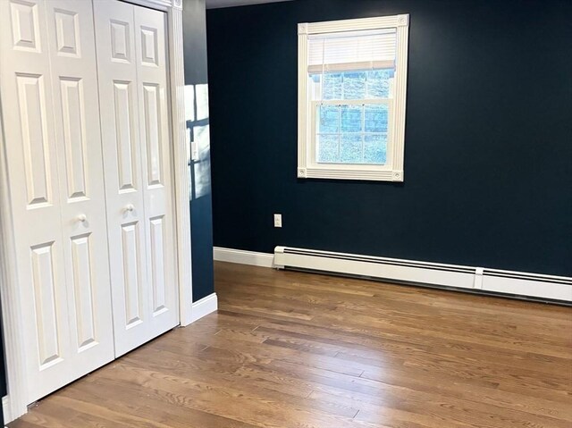
[[[118,357],[179,323],[165,18],[113,0],[94,11]]]

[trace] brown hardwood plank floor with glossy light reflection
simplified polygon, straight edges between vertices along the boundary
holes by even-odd
[[[572,427],[572,309],[239,264],[11,428]]]

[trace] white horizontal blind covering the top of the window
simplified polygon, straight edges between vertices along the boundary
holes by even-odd
[[[391,68],[396,29],[318,34],[308,37],[309,74]]]

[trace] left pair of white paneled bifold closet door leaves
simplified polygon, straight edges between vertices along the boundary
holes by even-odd
[[[89,5],[0,1],[0,92],[29,402],[114,357],[105,219],[97,208],[105,202],[101,155],[92,147],[99,135],[88,121],[98,102],[89,89],[96,85],[88,71],[95,67]]]

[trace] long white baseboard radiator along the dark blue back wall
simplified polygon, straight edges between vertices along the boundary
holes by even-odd
[[[274,248],[274,266],[572,305],[572,278],[305,248]]]

